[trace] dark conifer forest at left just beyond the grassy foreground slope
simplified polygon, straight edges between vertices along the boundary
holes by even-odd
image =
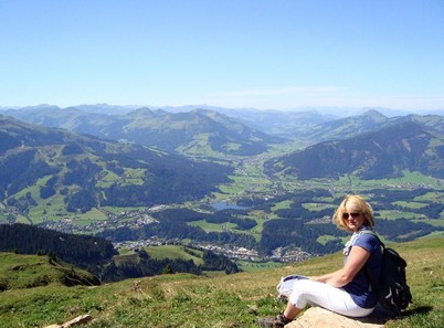
[[[202,253],[202,265],[192,260],[151,258],[145,250],[136,250],[135,254],[127,256],[116,256],[118,252],[105,239],[61,233],[29,224],[1,224],[0,252],[47,255],[50,262],[56,262],[59,258],[95,274],[96,283],[99,279],[117,282],[162,273],[200,275],[202,271],[223,271],[226,274],[240,271],[228,257],[211,251]]]

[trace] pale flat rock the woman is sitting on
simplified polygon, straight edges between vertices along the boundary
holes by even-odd
[[[349,318],[320,307],[310,307],[285,328],[382,328],[385,321],[387,318],[379,314],[363,318]]]

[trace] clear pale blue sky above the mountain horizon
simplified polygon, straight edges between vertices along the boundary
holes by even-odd
[[[444,108],[444,0],[0,0],[0,106]]]

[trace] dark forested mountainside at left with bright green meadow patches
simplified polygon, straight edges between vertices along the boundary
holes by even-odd
[[[232,169],[136,144],[0,116],[0,201],[27,212],[56,197],[68,211],[200,199]]]

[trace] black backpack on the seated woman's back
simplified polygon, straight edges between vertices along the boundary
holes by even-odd
[[[379,282],[379,304],[391,314],[400,316],[410,303],[412,294],[406,283],[406,262],[397,251],[385,247],[379,236],[371,230],[362,231],[374,235],[382,246],[382,272]]]

